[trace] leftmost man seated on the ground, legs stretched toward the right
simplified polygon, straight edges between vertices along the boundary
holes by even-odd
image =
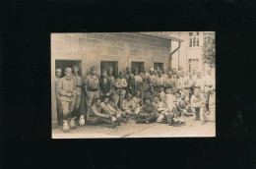
[[[96,103],[92,106],[92,111],[90,115],[90,120],[88,121],[89,125],[98,125],[102,123],[110,124],[111,127],[115,127],[114,119],[110,114],[103,111],[101,106],[101,99],[96,98]]]

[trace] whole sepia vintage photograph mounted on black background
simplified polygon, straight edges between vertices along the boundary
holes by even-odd
[[[215,31],[51,33],[52,139],[216,137]]]

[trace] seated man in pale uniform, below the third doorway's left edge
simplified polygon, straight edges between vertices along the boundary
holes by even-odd
[[[126,99],[123,100],[122,109],[127,115],[137,116],[140,112],[140,106],[132,100],[132,95],[128,93]]]

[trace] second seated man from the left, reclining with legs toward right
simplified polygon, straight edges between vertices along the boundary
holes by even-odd
[[[109,115],[112,116],[112,122],[115,122],[117,124],[119,124],[119,122],[123,121],[122,118],[122,113],[115,110],[109,103],[108,103],[109,99],[108,97],[104,97],[103,102],[101,102],[100,106],[102,108],[102,110],[105,113],[108,113]]]

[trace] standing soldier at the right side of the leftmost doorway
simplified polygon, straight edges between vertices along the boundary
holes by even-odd
[[[73,111],[73,116],[78,117],[79,116],[79,106],[81,102],[81,96],[82,96],[82,77],[78,75],[79,67],[77,65],[73,66],[73,74],[71,75],[71,79],[74,82],[74,85],[76,87],[75,92],[76,92],[76,100],[75,100],[75,106],[74,106],[74,111]]]

